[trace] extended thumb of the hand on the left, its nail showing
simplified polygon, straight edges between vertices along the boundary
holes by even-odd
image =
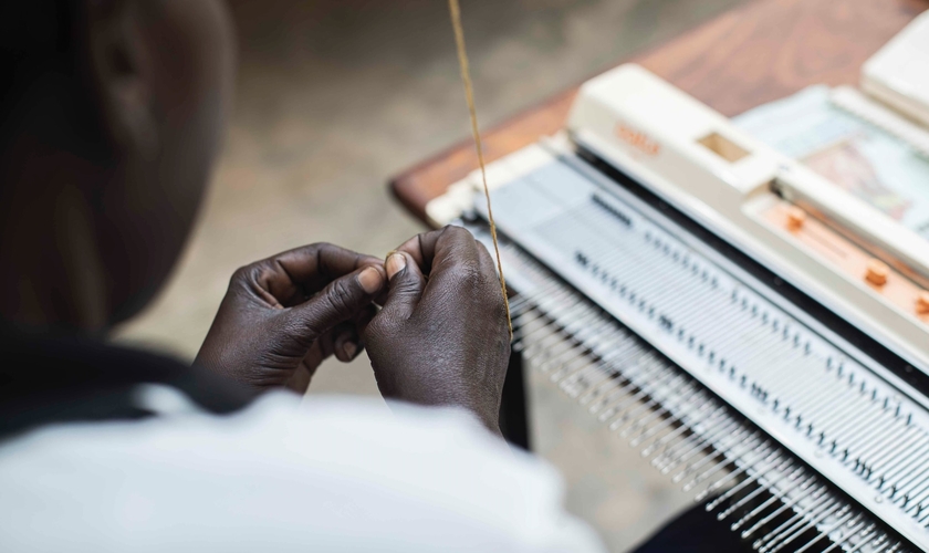
[[[294,307],[294,313],[301,324],[319,337],[336,324],[353,320],[370,304],[386,281],[380,267],[355,271],[330,282],[322,292]]]

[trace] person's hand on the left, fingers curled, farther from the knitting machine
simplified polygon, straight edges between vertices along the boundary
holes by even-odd
[[[236,271],[195,363],[303,393],[330,355],[352,361],[386,284],[383,261],[319,243]]]

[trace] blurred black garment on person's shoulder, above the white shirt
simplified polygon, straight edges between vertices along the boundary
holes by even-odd
[[[170,357],[76,335],[11,328],[0,323],[0,440],[56,422],[138,419],[140,385],[185,394],[200,409],[231,413],[254,392]]]

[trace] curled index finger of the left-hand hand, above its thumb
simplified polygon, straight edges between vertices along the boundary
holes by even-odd
[[[285,251],[255,263],[255,281],[282,306],[304,302],[335,279],[382,260],[330,243],[315,243]]]

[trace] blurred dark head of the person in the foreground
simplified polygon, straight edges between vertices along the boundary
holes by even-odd
[[[222,0],[0,6],[0,314],[97,331],[157,292],[230,107]]]

